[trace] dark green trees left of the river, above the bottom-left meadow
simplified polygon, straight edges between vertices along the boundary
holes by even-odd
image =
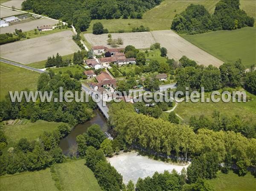
[[[65,158],[58,143],[72,128],[70,125],[59,125],[51,133],[44,132],[39,140],[29,142],[25,138],[20,139],[1,156],[0,175],[41,170],[64,162]]]

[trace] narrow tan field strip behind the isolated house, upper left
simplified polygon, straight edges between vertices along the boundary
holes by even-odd
[[[0,34],[6,33],[6,32],[13,33],[15,29],[21,29],[22,31],[30,31],[40,26],[55,25],[56,23],[58,22],[55,20],[42,18],[42,19],[32,20],[26,23],[19,23],[11,26],[1,27]]]

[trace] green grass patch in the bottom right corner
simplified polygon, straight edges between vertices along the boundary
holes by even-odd
[[[215,179],[207,182],[212,184],[216,191],[255,191],[256,178],[249,172],[244,177],[239,177],[233,171],[228,174],[219,171]]]

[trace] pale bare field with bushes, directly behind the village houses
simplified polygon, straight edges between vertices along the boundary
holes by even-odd
[[[120,48],[125,48],[127,45],[133,45],[135,48],[149,48],[151,44],[154,44],[154,38],[150,32],[128,32],[128,33],[111,33],[113,39],[122,38],[123,45],[119,45]],[[111,48],[107,44],[108,34],[84,34],[86,40],[92,46],[106,46]]]

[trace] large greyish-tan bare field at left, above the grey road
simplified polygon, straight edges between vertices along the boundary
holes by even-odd
[[[15,62],[29,64],[59,53],[72,54],[80,50],[72,40],[72,31],[63,31],[42,37],[1,45],[0,56]]]

